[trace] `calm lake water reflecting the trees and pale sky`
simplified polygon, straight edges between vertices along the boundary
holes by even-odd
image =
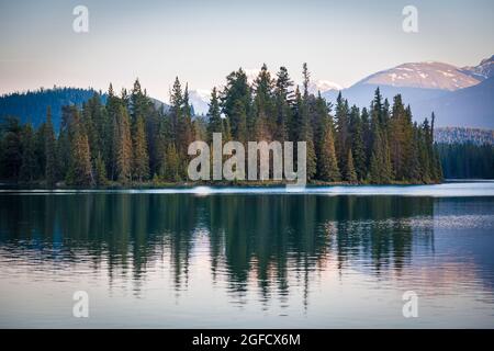
[[[0,191],[0,327],[494,328],[494,182],[266,191]]]

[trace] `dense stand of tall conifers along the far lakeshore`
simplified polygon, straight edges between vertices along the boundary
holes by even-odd
[[[392,103],[379,88],[369,107],[335,105],[308,92],[310,72],[294,87],[281,67],[266,65],[249,84],[240,68],[212,90],[206,116],[193,115],[188,86],[177,78],[170,106],[157,106],[136,79],[132,90],[94,94],[79,109],[61,107],[59,131],[50,107],[38,127],[4,117],[0,126],[0,179],[53,186],[164,185],[190,183],[190,143],[306,141],[313,183],[436,183],[442,179],[434,146],[435,116],[413,122],[401,95]]]

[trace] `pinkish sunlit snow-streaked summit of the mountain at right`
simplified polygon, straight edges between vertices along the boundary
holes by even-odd
[[[371,75],[357,84],[407,87],[420,89],[458,90],[480,83],[481,79],[461,68],[442,63],[403,64]]]

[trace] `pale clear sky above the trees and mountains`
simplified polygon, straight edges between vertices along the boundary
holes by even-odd
[[[89,31],[76,33],[86,5]],[[418,32],[405,33],[405,5]],[[176,76],[191,89],[263,63],[349,87],[404,63],[478,65],[494,54],[492,0],[0,0],[0,94],[70,86],[131,88],[168,101]]]

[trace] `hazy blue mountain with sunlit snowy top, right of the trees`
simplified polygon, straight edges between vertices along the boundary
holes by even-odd
[[[433,61],[404,64],[373,73],[341,94],[350,104],[369,106],[379,87],[390,103],[402,94],[417,121],[434,111],[438,126],[494,128],[493,65],[494,56],[463,68]],[[329,90],[323,97],[334,103],[337,94]]]

